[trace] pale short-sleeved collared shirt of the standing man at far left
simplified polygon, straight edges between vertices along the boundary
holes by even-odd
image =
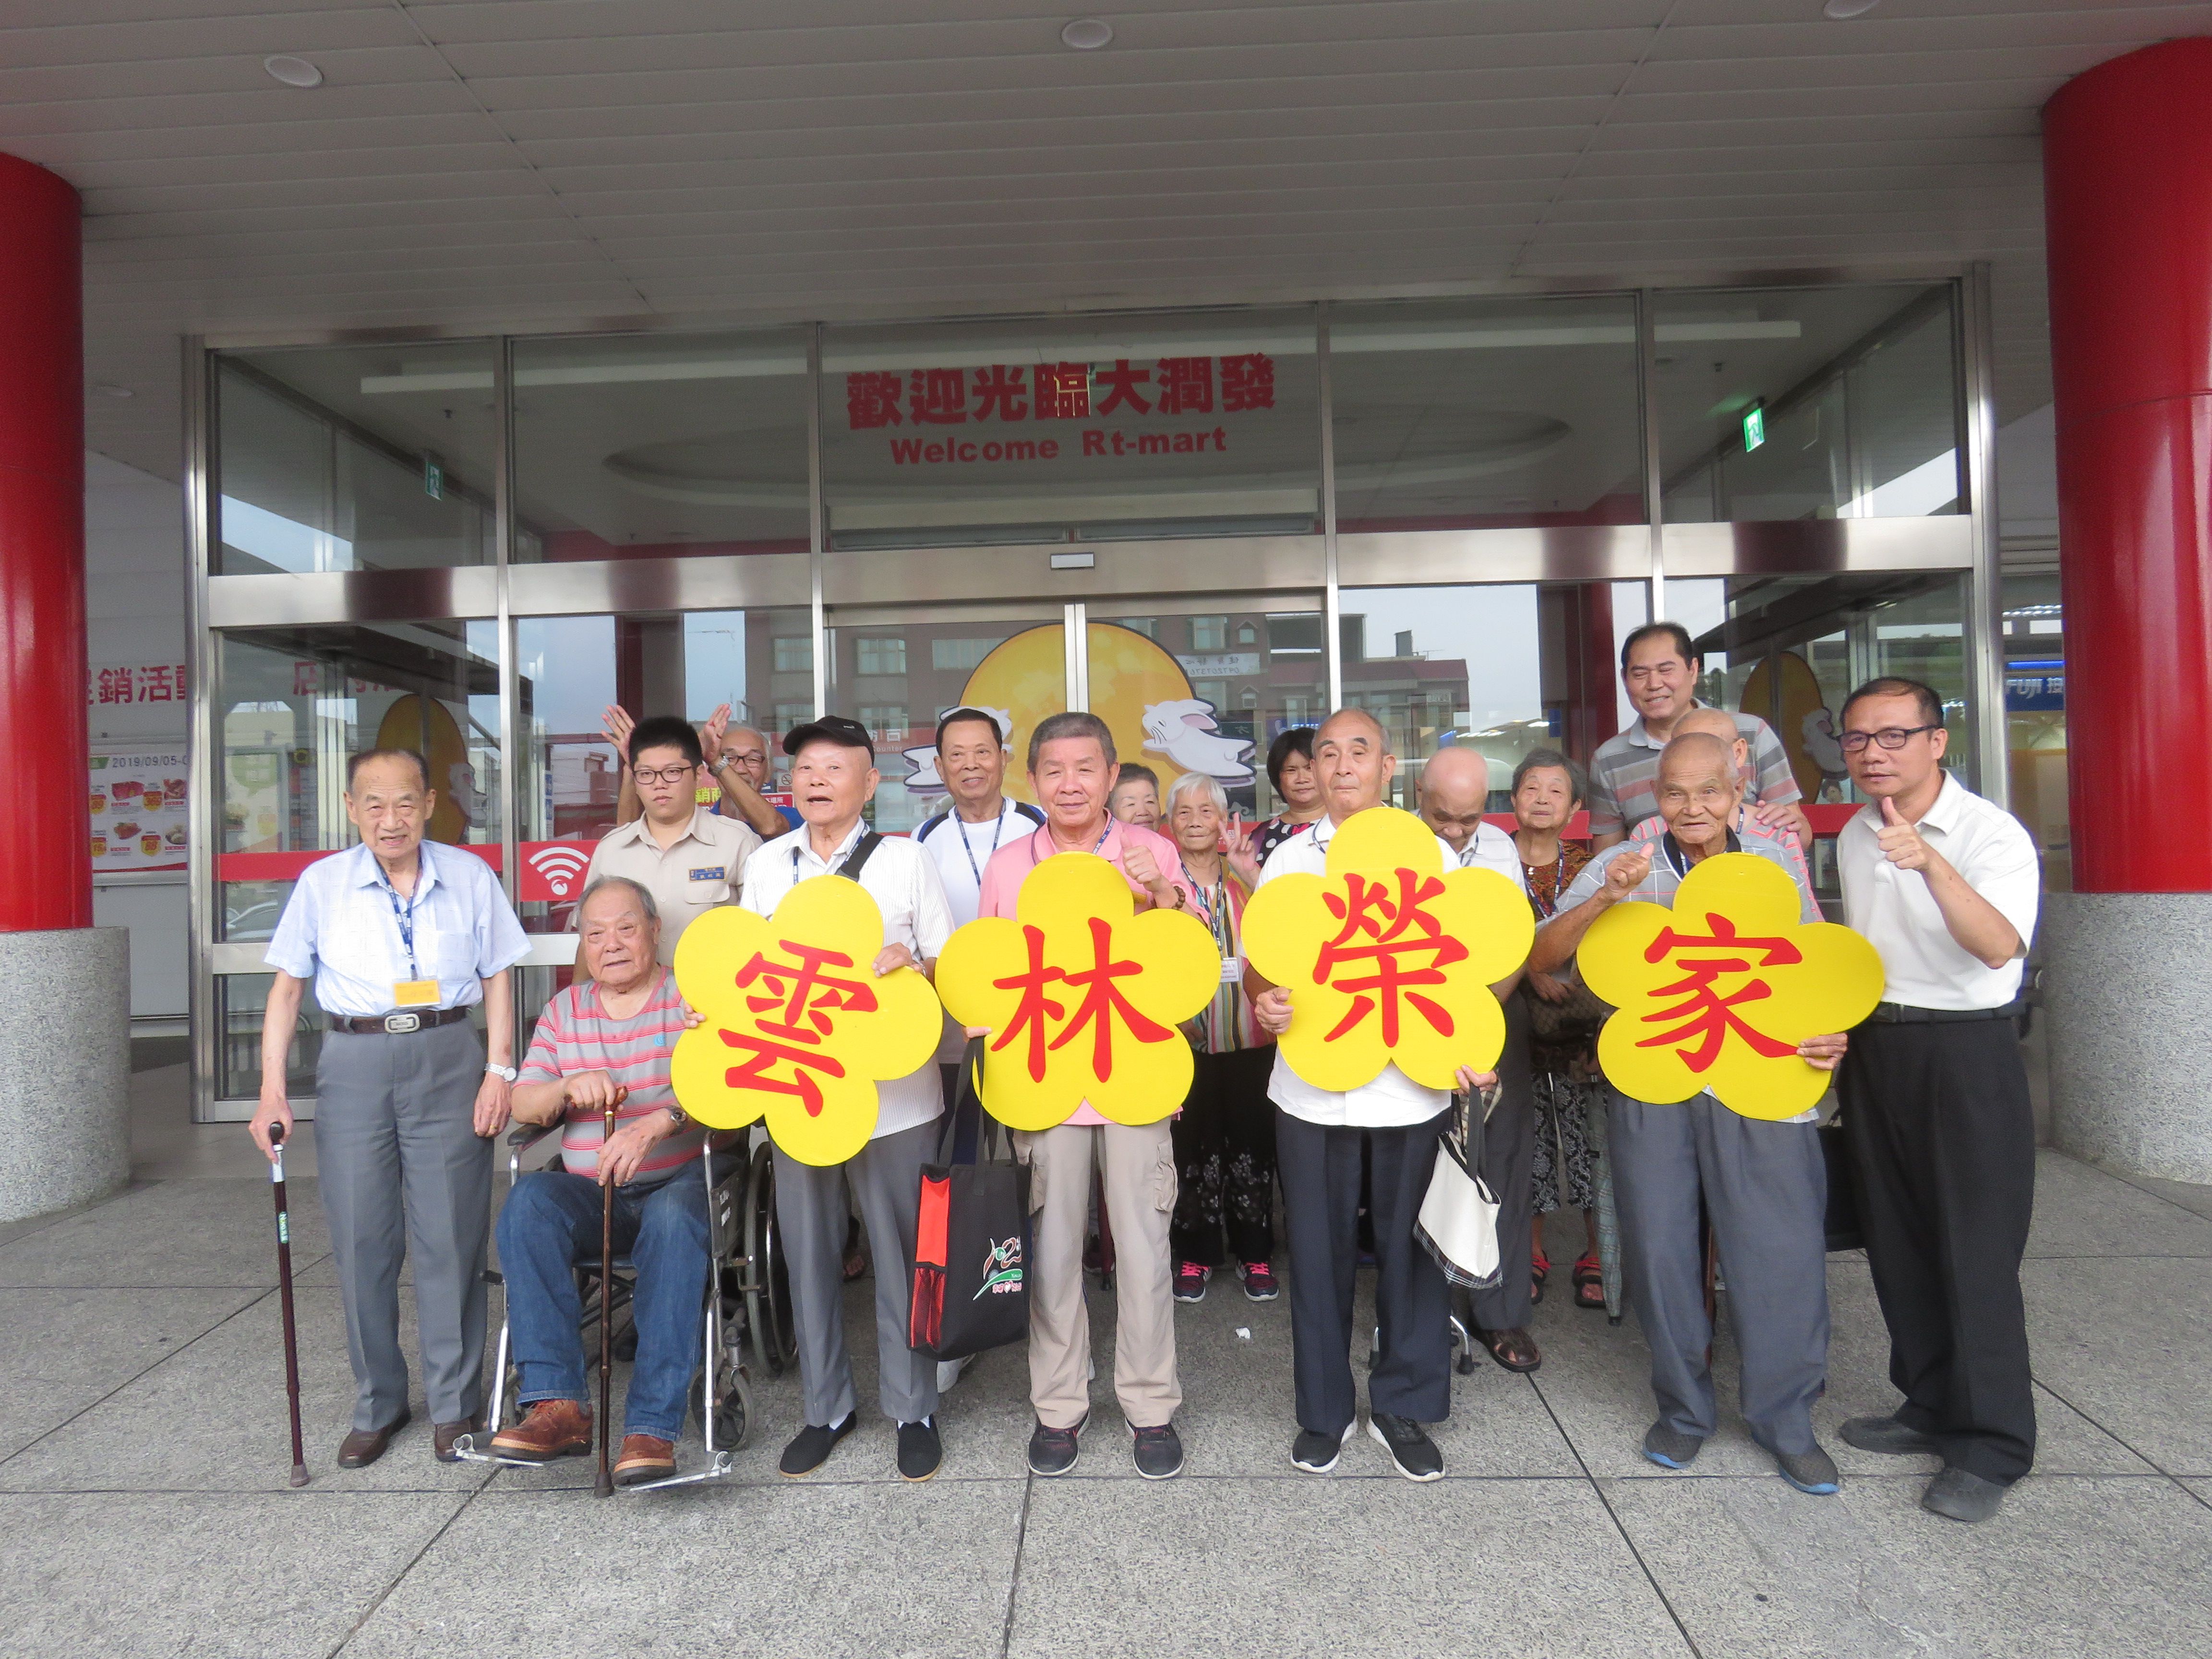
[[[285,900],[270,936],[268,964],[314,980],[323,1013],[374,1020],[398,1011],[394,987],[438,980],[438,1009],[484,1000],[482,980],[529,956],[491,865],[473,852],[425,841],[416,889],[400,898],[365,843],[316,858]],[[414,951],[400,929],[414,929]]]

